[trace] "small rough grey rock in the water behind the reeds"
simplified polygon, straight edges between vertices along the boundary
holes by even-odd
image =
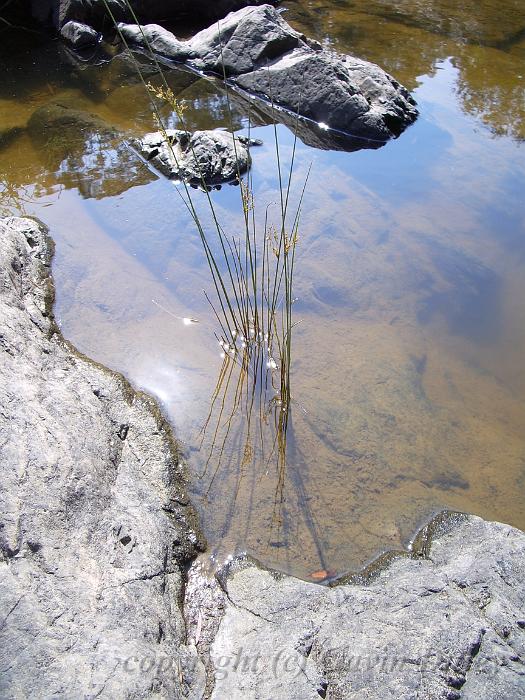
[[[157,131],[133,141],[141,155],[172,179],[195,185],[217,187],[236,182],[251,164],[248,145],[256,142],[229,131],[186,131],[168,129],[168,140]]]

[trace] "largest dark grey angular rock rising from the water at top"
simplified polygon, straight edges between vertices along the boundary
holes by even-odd
[[[148,49],[136,26],[120,28],[126,40]],[[300,115],[302,132],[312,131],[314,142],[333,136],[340,144],[355,137],[361,144],[349,143],[348,150],[377,147],[399,136],[418,114],[408,91],[381,68],[323,49],[270,5],[231,13],[188,42],[170,39],[166,30],[158,36],[158,30],[144,29],[164,58],[225,76],[229,85],[259,98],[274,118],[280,119],[276,108],[286,115],[283,121]],[[320,138],[320,131],[329,133]]]

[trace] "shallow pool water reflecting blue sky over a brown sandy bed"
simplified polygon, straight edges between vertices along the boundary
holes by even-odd
[[[305,578],[353,571],[409,546],[442,508],[524,528],[522,3],[287,7],[293,26],[392,73],[421,115],[379,150],[299,144],[294,192],[310,163],[312,177],[284,468],[272,411],[261,421],[257,405],[249,426],[242,411],[227,423],[224,382],[202,435],[223,361],[201,243],[173,185],[110,136],[63,150],[23,130],[56,99],[127,132],[153,130],[132,66],[80,70],[57,44],[4,32],[0,208],[49,225],[64,334],[162,402],[218,561],[246,550]],[[184,72],[170,81],[193,128],[227,124],[219,86]],[[245,105],[234,109],[246,130]],[[252,152],[256,202],[276,201],[273,128],[254,122],[264,141]],[[292,134],[277,131],[289,162]],[[225,226],[239,227],[239,189],[213,200]]]

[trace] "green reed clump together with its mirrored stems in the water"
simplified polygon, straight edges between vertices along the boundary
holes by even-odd
[[[180,128],[188,132],[185,105],[174,95],[145,33],[140,28],[144,45],[158,71],[160,85],[153,85],[145,80],[139,62],[119,30],[106,0],[104,4],[120,40],[135,62],[137,74],[150,97],[155,124],[178,167],[176,150],[162,118],[161,107],[167,103],[177,116]],[[127,0],[126,5],[133,21],[140,27]],[[220,24],[218,26],[220,32]],[[238,141],[233,130],[232,107],[225,72],[223,78],[229,115],[228,128],[233,137],[238,168]],[[250,129],[251,125],[248,131]],[[189,184],[182,180],[177,187],[177,192],[195,224],[208,263],[214,294],[210,296],[207,292],[204,293],[218,324],[215,335],[220,344],[223,359],[217,385],[211,398],[209,415],[202,430],[202,440],[207,433],[211,435],[208,458],[202,474],[203,477],[208,474],[209,478],[206,492],[210,492],[221,467],[225,466],[227,452],[229,458],[226,461],[229,462],[229,468],[234,466],[231,464],[232,450],[228,450],[227,446],[235,443],[239,450],[236,453],[239,461],[236,490],[238,491],[249,465],[255,468],[256,463],[262,463],[267,473],[275,458],[276,504],[282,503],[283,500],[286,436],[292,401],[290,369],[294,327],[293,278],[299,242],[301,206],[309,175],[308,171],[300,188],[298,204],[291,211],[296,144],[297,134],[295,133],[291,161],[285,169],[281,162],[277,127],[274,123],[279,187],[278,215],[275,223],[270,220],[272,204],[260,205],[258,202],[250,168],[244,175],[244,179],[239,169],[237,171],[239,213],[242,220],[240,233],[226,231],[221,225],[210,188],[202,176],[194,151],[193,157],[197,172],[200,173],[201,189],[211,214],[210,228],[207,228],[199,216],[195,192]],[[249,148],[249,145],[247,147]],[[191,144],[190,148],[192,148]],[[235,421],[239,414],[243,426],[240,433]],[[266,444],[268,428],[272,432],[269,446]],[[214,467],[210,476],[209,466],[212,462]]]

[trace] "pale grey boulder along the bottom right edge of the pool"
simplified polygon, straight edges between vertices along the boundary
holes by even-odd
[[[249,560],[219,578],[211,611],[198,564],[186,589],[213,700],[525,697],[525,535],[510,526],[456,516],[419,557],[333,588]]]

